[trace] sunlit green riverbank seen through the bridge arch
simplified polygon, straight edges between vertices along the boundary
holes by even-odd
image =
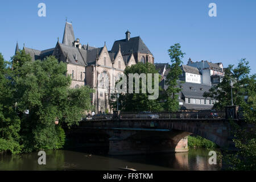
[[[200,136],[188,136],[188,148],[206,148],[208,150],[218,148],[217,144]]]

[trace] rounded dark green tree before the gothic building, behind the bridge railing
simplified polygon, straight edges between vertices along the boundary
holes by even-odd
[[[158,73],[155,69],[155,65],[151,63],[137,63],[135,65],[131,65],[131,67],[126,67],[124,74],[127,77],[127,93],[126,94],[119,94],[119,110],[123,111],[162,111],[163,107],[162,104],[159,102],[160,97],[156,100],[148,100],[148,96],[152,95],[148,93],[148,90],[146,93],[142,93],[142,79],[139,80],[139,93],[135,93],[135,80],[133,80],[133,93],[129,93],[129,73],[138,73],[138,75],[141,75],[141,73],[146,74],[146,80],[147,80],[147,73],[152,73],[152,88],[154,88],[154,73]],[[160,81],[160,76],[159,76]],[[147,83],[146,83],[147,87]],[[159,92],[160,92],[159,88]],[[117,108],[117,94],[112,95],[112,108]]]

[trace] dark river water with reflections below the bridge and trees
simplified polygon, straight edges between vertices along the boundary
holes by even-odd
[[[88,152],[80,148],[46,151],[46,165],[38,164],[38,152],[5,154],[0,155],[0,170],[119,170],[126,166],[143,171],[220,170],[221,160],[210,165],[208,153],[205,149],[191,149],[176,154],[110,156],[104,150]]]

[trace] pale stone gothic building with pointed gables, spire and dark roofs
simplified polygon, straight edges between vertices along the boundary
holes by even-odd
[[[72,88],[89,85],[95,90],[92,103],[96,113],[111,110],[110,94],[115,91],[115,81],[121,77],[127,66],[142,63],[154,64],[154,56],[137,36],[131,38],[131,33],[126,31],[126,38],[114,42],[110,51],[104,44],[103,47],[90,47],[83,45],[80,39],[75,39],[73,26],[65,23],[62,43],[57,41],[54,48],[39,51],[23,47],[32,60],[43,60],[53,55],[59,61],[67,63],[67,73],[72,77]],[[18,49],[18,43],[16,45]]]

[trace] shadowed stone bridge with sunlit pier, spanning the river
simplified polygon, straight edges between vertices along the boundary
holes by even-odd
[[[105,134],[110,155],[186,152],[190,134],[211,140],[221,148],[233,149],[232,131],[230,120],[225,118],[93,119],[72,128],[72,132],[80,134]]]

